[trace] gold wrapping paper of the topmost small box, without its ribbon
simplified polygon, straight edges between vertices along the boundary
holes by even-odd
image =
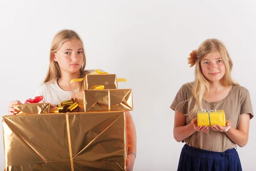
[[[84,80],[84,90],[93,90],[98,86],[104,89],[117,89],[116,74],[88,74]]]

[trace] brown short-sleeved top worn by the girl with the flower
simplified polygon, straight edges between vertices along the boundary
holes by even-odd
[[[177,110],[183,114],[187,114],[188,103],[181,103],[186,101],[192,96],[189,87],[192,83],[183,84],[178,91],[174,101],[172,102],[172,110]],[[192,101],[190,109],[195,104],[195,100]],[[237,128],[239,124],[240,115],[243,113],[250,113],[250,119],[253,118],[253,107],[250,100],[249,91],[241,86],[231,86],[230,93],[221,101],[208,102],[203,100],[202,105],[204,109],[216,109],[224,110],[226,119],[231,122],[234,128]],[[177,107],[177,108],[176,108]],[[193,118],[186,116],[186,124],[189,124]],[[191,136],[184,140],[189,146],[200,148],[208,151],[223,152],[227,149],[234,148],[237,145],[226,135],[224,132],[209,130],[209,133],[196,131]]]

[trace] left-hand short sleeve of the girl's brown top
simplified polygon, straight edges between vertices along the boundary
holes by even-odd
[[[183,84],[180,87],[180,90],[175,96],[175,99],[172,101],[170,108],[180,113],[186,114],[187,107],[187,86]]]

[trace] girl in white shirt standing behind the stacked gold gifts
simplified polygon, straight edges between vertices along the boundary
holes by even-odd
[[[73,30],[61,30],[52,40],[49,69],[37,96],[44,96],[43,101],[50,104],[60,104],[61,101],[71,99],[71,94],[84,90],[84,83],[70,84],[72,79],[84,78],[94,70],[84,70],[86,58],[84,45],[80,36]],[[9,115],[13,115],[13,104],[20,101],[12,101],[9,105]],[[126,127],[128,136],[127,171],[133,170],[136,158],[136,130],[131,113],[126,112]]]

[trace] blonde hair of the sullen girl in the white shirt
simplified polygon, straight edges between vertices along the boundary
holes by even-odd
[[[58,78],[61,77],[61,70],[58,65],[58,62],[53,61],[52,54],[57,52],[64,42],[70,41],[72,39],[77,39],[82,46],[82,49],[84,51],[84,44],[80,36],[73,30],[64,29],[56,33],[56,35],[52,39],[52,45],[50,50],[50,58],[49,58],[49,68],[47,71],[47,75],[43,81],[43,84],[50,83],[54,81],[55,79],[58,80]],[[83,64],[80,68],[80,78],[83,78],[87,73],[84,71],[86,65],[86,58],[85,53],[83,53]],[[84,82],[81,81],[79,83],[79,90],[83,90]]]

